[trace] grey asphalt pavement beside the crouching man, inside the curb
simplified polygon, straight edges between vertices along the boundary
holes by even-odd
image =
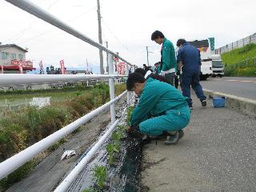
[[[142,158],[144,191],[256,191],[256,119],[197,98],[175,146],[151,142]]]

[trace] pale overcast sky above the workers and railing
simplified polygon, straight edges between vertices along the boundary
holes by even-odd
[[[42,9],[98,42],[97,0],[33,0]],[[176,44],[178,38],[215,38],[215,47],[224,46],[256,32],[254,0],[100,0],[103,44],[122,58],[142,66],[149,46],[150,65],[160,60],[161,46],[151,41],[161,30]],[[9,2],[0,0],[0,42],[29,48],[26,58],[38,68],[59,67],[99,71],[98,49],[62,30],[35,18]],[[106,66],[106,56],[104,55]]]

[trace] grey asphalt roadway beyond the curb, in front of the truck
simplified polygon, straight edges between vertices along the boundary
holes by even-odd
[[[208,78],[200,83],[207,90],[256,100],[256,78]]]

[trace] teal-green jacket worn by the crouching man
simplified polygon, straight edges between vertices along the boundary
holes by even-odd
[[[187,106],[187,98],[166,82],[148,78],[130,118],[130,126],[137,126],[150,116],[161,115],[166,110]]]

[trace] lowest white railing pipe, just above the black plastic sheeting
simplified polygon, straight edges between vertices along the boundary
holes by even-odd
[[[125,110],[123,111],[122,115],[124,114]],[[54,192],[62,192],[66,191],[69,186],[74,182],[74,179],[78,177],[78,174],[81,173],[82,169],[86,166],[88,162],[90,162],[90,159],[94,157],[94,154],[97,152],[97,150],[102,146],[104,142],[106,142],[106,139],[109,138],[111,132],[114,130],[114,128],[118,125],[118,122],[120,121],[120,118],[116,120],[112,126],[110,126],[110,129],[106,131],[106,133],[98,140],[98,142],[91,148],[91,150],[86,154],[84,158],[82,158],[81,162],[78,163],[77,166],[74,167],[74,169],[66,176],[66,178],[61,182],[61,184],[54,190]]]

